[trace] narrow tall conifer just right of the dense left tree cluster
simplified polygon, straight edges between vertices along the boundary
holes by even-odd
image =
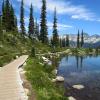
[[[21,9],[20,9],[20,29],[21,35],[25,36],[25,23],[24,23],[24,2],[21,1]]]

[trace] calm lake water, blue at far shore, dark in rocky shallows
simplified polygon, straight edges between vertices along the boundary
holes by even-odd
[[[100,100],[100,56],[66,56],[58,66],[58,75],[65,78],[66,96],[77,100]],[[75,84],[84,85],[82,90],[73,89]]]

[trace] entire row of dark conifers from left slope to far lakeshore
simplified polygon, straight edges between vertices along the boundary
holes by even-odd
[[[21,1],[20,7],[20,30],[18,31],[17,27],[17,17],[15,15],[15,11],[13,5],[9,0],[3,0],[2,3],[2,16],[0,17],[0,31],[6,32],[16,31],[19,32],[21,37],[25,38],[28,36],[31,40],[37,39],[44,44],[50,44],[52,47],[69,47],[69,35],[66,35],[66,38],[60,38],[57,30],[57,12],[56,8],[54,9],[54,18],[53,18],[53,31],[52,38],[48,38],[48,27],[47,27],[47,17],[46,17],[46,0],[42,0],[41,7],[41,16],[40,16],[40,24],[37,22],[37,19],[34,18],[33,6],[30,5],[30,15],[29,15],[29,26],[28,26],[28,34],[25,29],[25,21],[24,21],[24,1]],[[77,47],[82,47],[84,44],[83,31],[81,36],[78,33],[77,36]]]

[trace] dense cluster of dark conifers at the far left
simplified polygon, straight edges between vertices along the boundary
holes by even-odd
[[[2,16],[0,17],[0,31],[18,31],[17,17],[15,15],[12,4],[9,0],[3,0],[2,3]]]

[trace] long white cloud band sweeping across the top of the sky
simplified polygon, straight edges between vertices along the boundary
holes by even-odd
[[[35,9],[37,8],[39,10],[41,8],[41,0],[24,0],[24,2],[27,6],[30,6],[32,3]],[[72,19],[98,21],[95,14],[83,5],[76,6],[69,1],[64,2],[63,0],[47,0],[47,11],[53,12],[55,7],[58,14],[67,14]]]

